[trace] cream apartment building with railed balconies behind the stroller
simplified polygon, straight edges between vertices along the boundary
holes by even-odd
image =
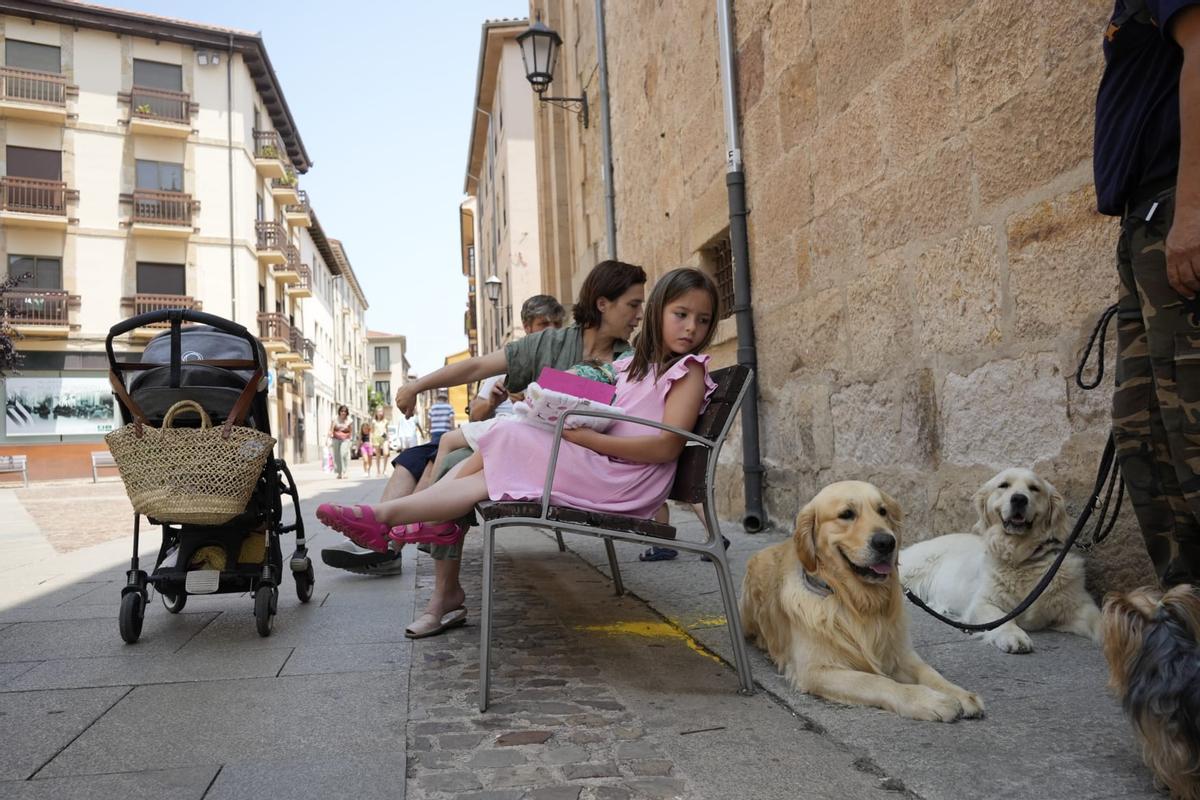
[[[24,363],[0,455],[89,474],[116,421],[108,329],[186,307],[262,337],[278,452],[316,457],[330,407],[366,415],[367,303],[300,188],[312,160],[263,40],[62,0],[4,12],[0,258],[29,277],[2,308]]]

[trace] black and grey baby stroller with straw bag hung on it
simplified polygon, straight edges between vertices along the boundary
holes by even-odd
[[[146,343],[140,357],[118,361],[113,339],[137,327],[167,323],[170,329]],[[185,323],[194,323],[184,327]],[[170,308],[140,314],[114,325],[104,342],[109,380],[128,423],[139,411],[150,425],[162,425],[179,401],[196,401],[218,425],[240,405],[248,410],[244,425],[270,434],[266,411],[266,354],[245,327],[198,311]],[[252,385],[253,384],[253,385]],[[136,409],[136,410],[131,410]],[[198,425],[180,417],[178,425]],[[295,523],[284,525],[283,495],[292,498]],[[133,559],[121,589],[121,638],[130,644],[142,636],[154,587],[172,614],[184,609],[188,595],[250,591],[260,636],[270,636],[283,581],[280,537],[295,531],[296,549],[288,561],[300,602],[312,600],[312,561],[305,547],[304,521],[295,481],[282,458],[266,459],[246,511],[221,525],[175,524],[146,517],[162,528],[162,546],[149,575],[138,567],[142,515],[133,513]]]

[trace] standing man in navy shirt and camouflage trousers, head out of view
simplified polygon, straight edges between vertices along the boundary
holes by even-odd
[[[1200,0],[1116,0],[1096,192],[1121,217],[1112,433],[1164,587],[1200,584]]]

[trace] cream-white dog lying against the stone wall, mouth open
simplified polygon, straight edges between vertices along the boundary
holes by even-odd
[[[1062,495],[1032,470],[1006,469],[974,497],[973,534],[907,547],[900,578],[930,607],[967,622],[1000,619],[1037,585],[1069,533]],[[1070,553],[1024,614],[983,634],[1004,652],[1030,652],[1025,630],[1054,628],[1100,640],[1100,610],[1084,588],[1084,558]],[[1022,630],[1025,628],[1025,630]]]

